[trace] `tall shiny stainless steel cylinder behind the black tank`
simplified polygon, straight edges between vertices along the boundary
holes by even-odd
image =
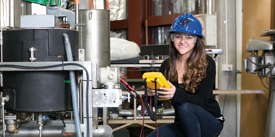
[[[110,11],[101,9],[79,10],[79,48],[85,49],[85,61],[100,67],[110,66]]]

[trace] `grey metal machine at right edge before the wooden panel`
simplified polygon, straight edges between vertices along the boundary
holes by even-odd
[[[243,60],[243,69],[246,72],[255,74],[257,73],[259,78],[272,78],[270,102],[268,108],[267,122],[266,122],[266,137],[274,136],[275,134],[275,30],[267,30],[263,32],[261,36],[269,36],[272,40],[262,39],[250,39],[247,42],[246,52],[250,52],[251,55]],[[258,52],[262,51],[262,55],[258,55]]]

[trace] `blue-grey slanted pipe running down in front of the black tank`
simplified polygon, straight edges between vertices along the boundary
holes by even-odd
[[[72,59],[72,50],[69,41],[69,35],[64,33],[63,34],[63,41],[65,44],[66,55],[68,61],[73,61]],[[78,103],[77,103],[77,94],[76,94],[76,84],[75,84],[75,75],[74,70],[69,70],[70,72],[70,84],[71,84],[71,92],[72,92],[72,108],[74,111],[74,125],[77,137],[82,137],[81,128],[80,128],[80,119],[79,119],[79,112],[78,112]]]

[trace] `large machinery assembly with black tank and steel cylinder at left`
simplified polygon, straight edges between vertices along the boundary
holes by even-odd
[[[23,1],[27,11],[30,3],[50,6],[47,15],[22,15],[18,29],[1,28],[0,136],[113,136],[97,118],[97,107],[118,107],[126,98],[120,69],[109,67],[109,11]],[[70,120],[62,116],[66,112],[73,112]]]

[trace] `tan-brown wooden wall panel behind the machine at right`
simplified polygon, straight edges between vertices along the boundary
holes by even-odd
[[[273,0],[243,0],[242,59],[245,59],[245,49],[249,39],[253,37],[256,39],[270,39],[270,37],[260,37],[265,29],[274,29]],[[247,53],[247,55],[251,54]],[[266,79],[263,79],[263,82],[266,83]],[[242,70],[241,73],[241,88],[266,90],[257,74],[250,74],[245,70]],[[241,137],[265,136],[268,101],[268,90],[265,94],[241,95]]]

